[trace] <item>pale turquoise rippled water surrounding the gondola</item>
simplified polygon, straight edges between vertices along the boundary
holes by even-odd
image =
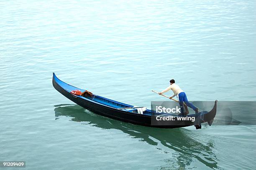
[[[146,107],[165,100],[151,90],[172,78],[189,100],[255,101],[255,8],[249,0],[2,0],[0,161],[24,160],[28,170],[254,169],[254,126],[127,124],[75,105],[51,79],[55,72]]]

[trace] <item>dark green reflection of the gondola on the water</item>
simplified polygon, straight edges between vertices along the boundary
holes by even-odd
[[[125,123],[99,116],[77,104],[60,104],[55,105],[54,107],[56,119],[59,119],[59,116],[66,116],[71,117],[72,121],[84,122],[84,124],[88,124],[90,126],[102,129],[118,129],[129,134],[132,138],[138,138],[139,141],[147,142],[149,145],[164,145],[167,147],[164,151],[166,153],[168,153],[169,149],[178,152],[179,154],[177,155],[179,156],[175,158],[176,165],[173,164],[173,159],[164,160],[164,162],[167,163],[168,168],[178,167],[178,169],[184,169],[186,166],[189,166],[191,162],[195,161],[195,159],[202,162],[207,167],[214,169],[218,168],[218,159],[213,152],[214,148],[211,140],[210,142],[205,142],[205,140],[199,142],[200,140],[195,140],[193,133],[187,129],[160,129]],[[160,148],[156,147],[156,149]],[[168,164],[168,162],[172,162],[172,164]],[[165,167],[161,168],[165,169]]]

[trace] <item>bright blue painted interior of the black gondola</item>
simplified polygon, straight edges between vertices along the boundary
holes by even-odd
[[[59,86],[61,86],[63,89],[65,89],[68,92],[70,92],[72,90],[80,90],[81,92],[85,91],[84,89],[77,88],[75,86],[72,86],[72,85],[69,85],[69,84],[65,83],[64,81],[61,81],[60,79],[58,79],[58,77],[55,74],[54,74],[54,80],[56,81],[57,84],[59,84]],[[105,97],[98,96],[98,95],[95,95],[95,94],[93,94],[92,97],[84,97],[84,96],[76,96],[76,97],[82,98],[84,100],[91,100],[93,102],[96,102],[97,104],[103,104],[105,106],[113,107],[115,109],[134,107],[132,105],[124,104],[124,103],[121,103],[119,101],[114,101],[114,100],[111,100],[111,99],[107,99]],[[131,113],[134,113],[134,114],[138,114],[137,109],[122,109],[122,110],[124,110],[126,112],[131,112]],[[151,112],[151,110],[146,109],[143,112],[143,114],[151,116],[152,112]]]

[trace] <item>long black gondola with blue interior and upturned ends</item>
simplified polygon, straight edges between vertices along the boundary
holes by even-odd
[[[59,91],[61,94],[66,96],[68,99],[73,101],[74,103],[78,104],[81,107],[84,107],[95,114],[99,114],[105,117],[109,117],[112,119],[120,120],[123,122],[128,122],[132,124],[138,124],[141,126],[147,127],[157,127],[157,128],[179,128],[179,127],[187,127],[195,125],[195,122],[192,121],[167,121],[164,124],[152,123],[156,120],[157,116],[167,117],[167,116],[174,116],[180,117],[174,114],[156,114],[154,111],[150,109],[146,109],[143,111],[143,114],[138,114],[138,109],[134,108],[134,106],[129,104],[124,104],[118,101],[114,101],[111,99],[107,99],[102,96],[98,96],[96,94],[81,96],[81,95],[74,95],[70,93],[73,90],[79,90],[84,92],[84,89],[80,89],[65,83],[57,78],[57,76],[53,73],[52,84],[54,88]],[[127,109],[123,109],[127,108]],[[188,117],[197,117],[200,121],[200,126],[196,125],[197,129],[201,128],[201,123],[208,122],[209,125],[212,124],[213,119],[217,112],[217,100],[214,103],[213,108],[210,112],[202,111],[199,114],[189,114]]]

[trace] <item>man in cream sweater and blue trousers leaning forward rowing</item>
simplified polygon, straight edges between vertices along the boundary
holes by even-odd
[[[174,96],[178,96],[179,106],[181,108],[181,111],[182,111],[181,114],[182,115],[184,115],[183,101],[184,101],[185,104],[187,104],[188,107],[192,108],[196,112],[196,114],[198,113],[197,107],[195,107],[192,103],[189,103],[189,101],[187,100],[187,96],[186,96],[185,92],[182,89],[180,89],[180,87],[177,84],[175,84],[174,79],[170,80],[170,86],[169,87],[167,87],[165,90],[159,92],[158,94],[163,94],[163,93],[165,93],[169,90],[172,90],[173,93],[174,93],[170,97],[170,99],[172,99]]]

